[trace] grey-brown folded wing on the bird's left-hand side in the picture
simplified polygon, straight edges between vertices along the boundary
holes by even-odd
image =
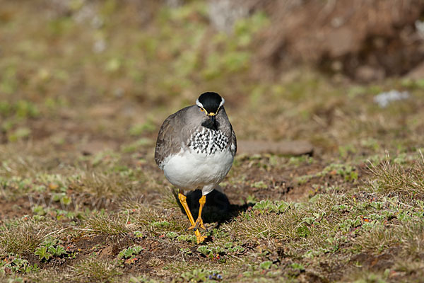
[[[187,108],[183,108],[178,112],[167,117],[160,127],[158,133],[158,139],[156,140],[155,148],[155,161],[159,167],[161,163],[170,154],[177,154],[182,145],[182,134],[181,130],[184,127],[184,119],[182,115],[187,111]]]

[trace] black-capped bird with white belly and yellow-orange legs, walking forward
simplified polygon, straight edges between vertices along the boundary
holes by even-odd
[[[165,119],[158,132],[155,162],[165,178],[177,187],[178,199],[189,218],[197,243],[206,237],[199,229],[206,228],[201,212],[206,195],[230,171],[237,152],[237,139],[224,108],[225,100],[218,93],[201,93],[196,104],[182,108]],[[184,191],[201,189],[199,216],[196,221],[187,205]]]

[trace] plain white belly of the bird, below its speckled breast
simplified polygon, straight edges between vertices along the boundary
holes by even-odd
[[[232,160],[230,149],[209,155],[186,149],[170,156],[163,171],[172,185],[185,190],[201,188],[206,195],[228,174]]]

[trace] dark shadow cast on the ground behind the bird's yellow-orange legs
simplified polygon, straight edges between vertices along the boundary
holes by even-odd
[[[182,204],[178,200],[177,192],[174,192],[175,199],[179,204],[179,208],[182,213],[185,214],[184,208]],[[189,206],[190,212],[192,212],[194,220],[197,219],[197,215],[199,214],[199,200],[201,198],[201,190],[193,190],[187,193],[187,204]],[[218,228],[220,224],[225,221],[229,221],[240,212],[245,212],[252,204],[230,204],[228,197],[218,190],[213,190],[206,195],[206,204],[204,206],[203,211],[201,212],[201,218],[204,223],[214,223],[218,222]]]

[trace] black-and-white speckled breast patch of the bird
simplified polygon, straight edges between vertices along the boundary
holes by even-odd
[[[188,146],[197,154],[216,154],[228,147],[228,137],[219,129],[203,128],[192,134]]]

